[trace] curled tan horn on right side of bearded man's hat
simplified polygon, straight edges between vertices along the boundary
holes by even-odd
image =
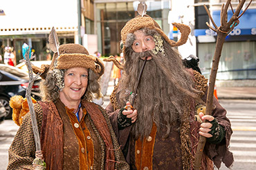
[[[171,42],[172,47],[183,45],[188,40],[188,35],[191,32],[190,27],[183,23],[172,23],[172,25],[176,26],[176,28],[178,28],[181,32],[181,39],[179,39],[179,41],[177,42],[172,41]]]

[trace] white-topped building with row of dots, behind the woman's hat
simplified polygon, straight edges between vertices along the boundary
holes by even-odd
[[[81,3],[80,8],[77,8],[77,2]],[[49,53],[53,54],[48,45],[48,35],[53,27],[60,44],[78,43],[79,13],[80,36],[93,33],[93,26],[90,28],[86,24],[94,18],[93,1],[10,0],[1,2],[0,8],[0,55],[3,56],[5,47],[12,47],[17,64],[23,59],[23,43],[32,47],[35,60],[44,61]]]

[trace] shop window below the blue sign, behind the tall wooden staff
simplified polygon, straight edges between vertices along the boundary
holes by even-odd
[[[199,43],[198,55],[203,75],[209,78],[215,43]],[[219,61],[218,80],[256,78],[256,41],[225,42]]]

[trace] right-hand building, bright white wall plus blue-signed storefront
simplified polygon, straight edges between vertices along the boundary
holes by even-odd
[[[202,74],[209,77],[212,58],[216,45],[217,34],[210,30],[205,22],[212,25],[203,5],[207,6],[214,23],[220,26],[221,5],[226,0],[194,0],[172,1],[170,20],[190,25],[192,32],[189,41],[179,47],[183,57],[194,54],[200,59]],[[231,1],[235,10],[238,1]],[[248,5],[246,0],[243,12]],[[181,4],[183,4],[181,6]],[[186,11],[186,12],[185,12]],[[232,9],[228,8],[228,19],[232,16]],[[239,18],[239,25],[226,37],[223,45],[217,81],[236,81],[235,86],[255,86],[256,80],[256,2],[253,1],[248,10]],[[214,26],[213,26],[214,27]],[[248,84],[248,81],[251,80]],[[247,83],[247,84],[246,84]]]

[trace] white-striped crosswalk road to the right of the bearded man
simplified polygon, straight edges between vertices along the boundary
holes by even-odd
[[[219,100],[228,111],[233,134],[230,140],[235,170],[256,169],[256,100]],[[221,170],[228,169],[224,164]]]

